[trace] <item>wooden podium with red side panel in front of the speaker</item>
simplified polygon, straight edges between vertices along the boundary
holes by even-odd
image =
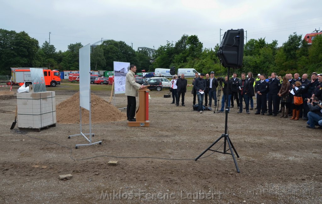
[[[148,85],[149,86],[149,85]],[[149,121],[149,91],[146,86],[144,89],[139,90],[139,107],[137,109],[137,120],[129,122],[129,127],[150,127]]]

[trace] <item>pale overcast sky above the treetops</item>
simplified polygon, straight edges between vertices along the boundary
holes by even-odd
[[[214,47],[229,29],[243,28],[247,39],[278,40],[293,32],[322,29],[321,0],[0,0],[0,28],[25,31],[56,50],[101,38],[124,41],[133,49],[157,49],[183,34]],[[245,32],[246,37],[246,32]]]

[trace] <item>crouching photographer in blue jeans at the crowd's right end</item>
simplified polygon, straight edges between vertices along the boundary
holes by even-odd
[[[319,125],[318,122],[322,120],[322,103],[318,101],[317,97],[312,97],[308,101],[308,125],[307,128],[315,129],[315,125]]]

